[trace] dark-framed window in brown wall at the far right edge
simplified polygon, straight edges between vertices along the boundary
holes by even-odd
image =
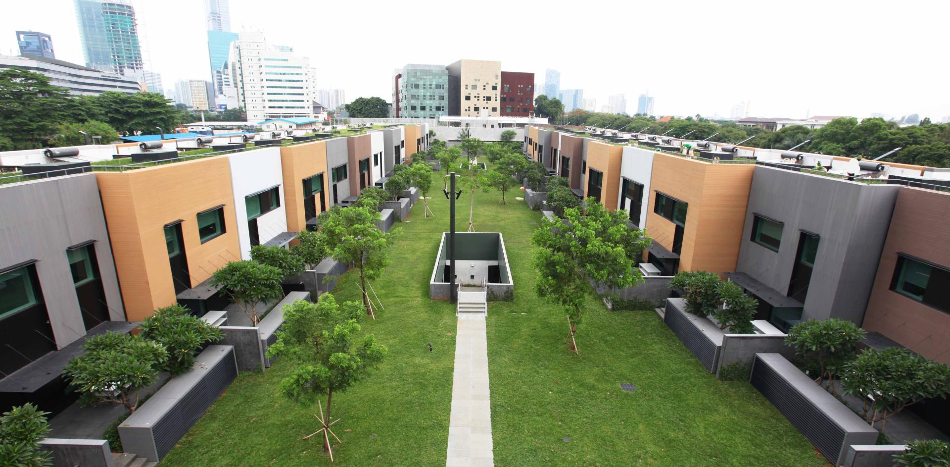
[[[891,290],[950,313],[950,269],[898,254]]]

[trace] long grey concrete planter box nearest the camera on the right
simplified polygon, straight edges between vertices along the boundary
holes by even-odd
[[[877,430],[781,355],[756,354],[750,383],[834,465],[851,445],[877,443]]]

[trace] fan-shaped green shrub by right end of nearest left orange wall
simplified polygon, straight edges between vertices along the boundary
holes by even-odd
[[[227,263],[211,276],[211,284],[223,289],[231,302],[237,303],[251,320],[252,326],[257,326],[260,322],[260,317],[257,316],[258,304],[276,301],[284,296],[284,291],[280,288],[280,282],[283,280],[283,272],[280,269],[256,261]]]

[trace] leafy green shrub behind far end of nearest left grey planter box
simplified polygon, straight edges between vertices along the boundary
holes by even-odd
[[[188,313],[180,304],[155,310],[142,320],[139,329],[143,339],[158,342],[168,351],[168,360],[161,369],[172,375],[190,371],[201,346],[224,337],[217,326]]]

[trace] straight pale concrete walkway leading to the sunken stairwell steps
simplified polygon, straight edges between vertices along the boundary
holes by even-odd
[[[485,315],[459,315],[453,378],[446,466],[494,466]]]

